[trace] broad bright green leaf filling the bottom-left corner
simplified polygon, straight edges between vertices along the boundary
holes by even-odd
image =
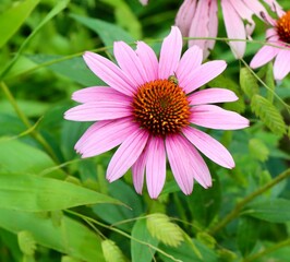
[[[86,226],[67,216],[61,226],[56,227],[49,217],[39,214],[0,210],[0,227],[17,234],[29,231],[35,241],[47,248],[67,253],[87,262],[105,262],[100,237]]]

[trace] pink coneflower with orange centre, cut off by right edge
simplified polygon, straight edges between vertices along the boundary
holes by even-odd
[[[263,64],[275,59],[274,62],[274,78],[282,80],[290,72],[290,11],[287,13],[280,12],[278,20],[273,20],[266,16],[266,22],[273,27],[267,29],[267,43],[280,46],[264,46],[254,56],[250,66],[253,69],[259,68]]]

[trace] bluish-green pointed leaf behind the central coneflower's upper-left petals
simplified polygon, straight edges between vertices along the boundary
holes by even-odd
[[[97,33],[106,47],[112,47],[113,43],[117,40],[123,40],[126,43],[134,41],[134,38],[124,29],[108,22],[76,14],[71,14],[71,17]]]

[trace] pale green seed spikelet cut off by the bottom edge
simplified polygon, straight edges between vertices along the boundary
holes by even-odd
[[[125,262],[122,251],[114,241],[110,239],[101,241],[101,249],[106,262]]]

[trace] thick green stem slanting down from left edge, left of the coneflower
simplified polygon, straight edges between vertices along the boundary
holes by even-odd
[[[47,143],[47,141],[38,133],[36,132],[36,130],[33,128],[33,126],[29,123],[28,118],[23,114],[23,111],[20,109],[15,98],[13,97],[13,95],[11,94],[9,87],[7,86],[7,84],[4,82],[0,83],[0,86],[3,91],[3,93],[5,94],[5,96],[8,97],[9,102],[11,103],[12,107],[14,108],[15,112],[17,114],[19,118],[21,119],[21,121],[25,124],[25,127],[27,129],[31,130],[31,134],[32,136],[39,143],[43,145],[43,147],[46,150],[46,152],[51,156],[51,158],[57,163],[60,164],[58,157],[56,156],[53,150],[50,147],[50,145]]]

